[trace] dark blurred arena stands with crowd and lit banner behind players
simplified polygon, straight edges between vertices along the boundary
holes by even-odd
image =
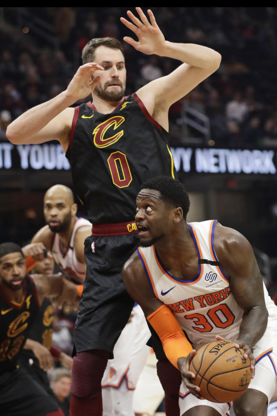
[[[47,188],[56,183],[72,187],[69,164],[57,142],[14,146],[6,138],[7,125],[66,89],[88,40],[122,40],[129,35],[119,19],[126,11],[0,7],[1,242],[28,243],[44,225]],[[276,301],[277,7],[152,11],[167,40],[207,45],[222,55],[218,71],[169,111],[170,146],[191,198],[189,220],[217,218],[243,233],[255,248]],[[124,42],[123,46],[127,94],[179,65],[173,59],[141,54]],[[78,215],[86,217],[81,204]],[[69,327],[61,324],[64,316],[59,318],[57,344]],[[66,348],[69,352],[70,339]]]

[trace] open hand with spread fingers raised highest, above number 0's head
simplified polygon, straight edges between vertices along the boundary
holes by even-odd
[[[132,37],[128,36],[125,36],[123,40],[132,45],[136,50],[147,55],[161,54],[166,47],[166,43],[164,35],[159,29],[152,11],[147,10],[150,17],[150,23],[140,7],[136,7],[136,10],[140,16],[140,19],[135,17],[135,15],[130,12],[130,10],[127,11],[127,15],[130,17],[134,25],[124,17],[120,17],[120,20],[125,26],[132,30],[135,35],[137,35],[138,42],[132,39]]]

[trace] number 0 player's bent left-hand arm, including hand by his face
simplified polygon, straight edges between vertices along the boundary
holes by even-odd
[[[98,69],[103,70],[93,62],[79,67],[66,91],[27,110],[9,124],[7,138],[13,144],[43,143],[56,139],[66,151],[74,116],[74,109],[67,107],[91,93],[100,80],[97,76],[91,82],[91,76]]]

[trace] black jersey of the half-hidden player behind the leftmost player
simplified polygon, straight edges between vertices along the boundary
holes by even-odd
[[[53,322],[53,307],[51,300],[44,298],[37,318],[32,326],[28,338],[39,342],[47,349],[52,347],[52,322]],[[33,360],[33,365],[39,366],[39,361],[31,349],[22,349],[20,353],[20,360],[25,360],[29,364],[29,359]]]

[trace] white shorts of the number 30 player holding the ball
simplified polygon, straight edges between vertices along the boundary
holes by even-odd
[[[272,352],[272,348],[267,351],[261,351],[256,348],[253,351],[256,359],[255,376],[250,381],[248,389],[261,391],[267,396],[268,403],[277,399],[277,356]],[[221,416],[229,415],[229,409],[232,403],[213,403],[208,400],[199,400],[189,392],[182,382],[179,392],[180,415],[182,416],[187,410],[194,406],[210,406],[216,409]]]

